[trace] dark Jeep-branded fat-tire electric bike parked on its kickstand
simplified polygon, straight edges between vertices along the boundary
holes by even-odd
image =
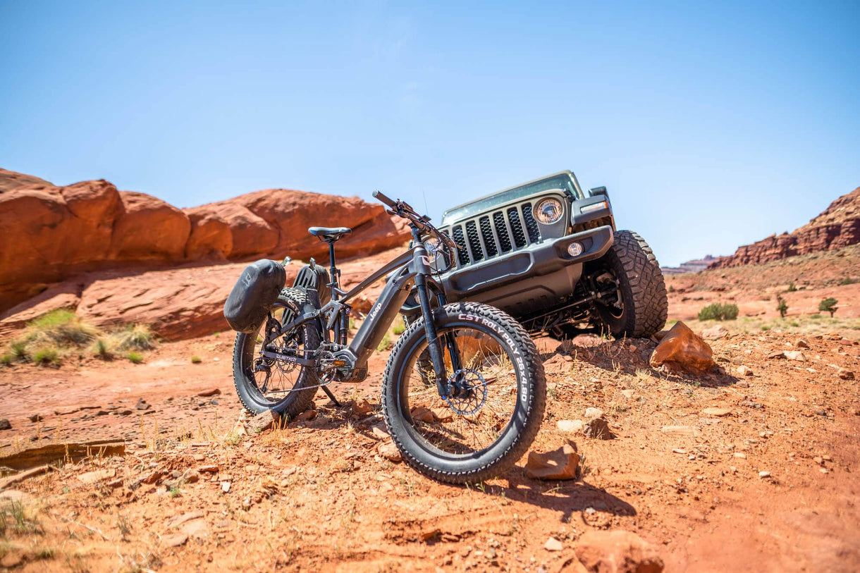
[[[329,271],[311,262],[299,276],[321,280],[284,288],[259,330],[238,333],[238,396],[251,413],[276,410],[287,419],[303,412],[319,388],[335,399],[328,385],[365,379],[368,358],[415,293],[421,317],[392,348],[383,379],[391,438],[406,463],[429,478],[462,484],[499,476],[531,446],[544,417],[537,348],[513,317],[493,306],[447,304],[435,277],[450,268],[457,244],[406,202],[378,191],[373,196],[390,215],[408,220],[409,249],[345,292],[335,243],[351,230],[311,227],[329,243]],[[347,343],[349,301],[382,279],[382,293]]]

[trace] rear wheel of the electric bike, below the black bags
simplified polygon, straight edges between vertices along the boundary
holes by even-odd
[[[236,336],[233,347],[233,383],[239,400],[251,414],[275,410],[280,416],[292,418],[307,409],[319,384],[313,367],[300,366],[284,360],[262,356],[268,328],[280,328],[295,319],[304,304],[304,292],[285,288],[273,305],[271,322],[263,323],[257,332]],[[281,354],[290,351],[310,358],[320,345],[319,332],[311,323],[288,330],[268,343]],[[304,390],[303,390],[304,388]]]

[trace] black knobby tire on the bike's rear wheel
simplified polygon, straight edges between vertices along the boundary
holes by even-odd
[[[279,316],[284,307],[287,309],[301,309],[304,304],[304,292],[299,289],[285,288],[281,291],[278,301],[272,309],[273,316]],[[290,315],[291,311],[287,311]],[[298,328],[303,330],[302,340],[304,348],[316,350],[320,345],[319,332],[311,323],[304,323]],[[282,417],[294,418],[304,410],[307,410],[310,401],[316,395],[316,388],[292,391],[279,401],[271,401],[261,395],[257,388],[257,380],[254,375],[254,360],[256,358],[256,336],[258,332],[246,334],[237,333],[236,343],[233,346],[233,384],[239,401],[251,414],[257,415],[267,410],[275,410]],[[273,367],[276,368],[276,367]],[[298,372],[293,388],[317,385],[316,372],[309,367],[296,367]]]

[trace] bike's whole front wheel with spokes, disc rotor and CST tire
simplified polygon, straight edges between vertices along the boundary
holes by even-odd
[[[544,367],[512,317],[477,303],[433,311],[450,396],[426,372],[423,319],[409,325],[385,368],[382,407],[402,458],[428,478],[494,478],[531,446],[544,417]]]

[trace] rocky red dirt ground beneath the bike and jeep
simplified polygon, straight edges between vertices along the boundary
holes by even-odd
[[[672,316],[779,284],[749,281],[730,295],[710,290],[726,280],[721,274],[740,270],[673,277]],[[833,270],[831,279],[820,271],[819,282],[800,292],[812,300],[820,299],[817,289],[836,289],[848,308],[856,286],[826,282],[846,272]],[[700,294],[710,298],[680,304]],[[744,317],[746,303],[740,306]],[[746,333],[730,324],[733,334],[710,341],[720,373],[696,379],[648,367],[650,340],[591,340],[593,348],[568,346],[562,355],[558,342],[539,339],[550,391],[532,450],[574,441],[584,457],[581,478],[531,480],[522,459],[478,488],[438,484],[378,455],[373,428],[387,353],[374,358],[364,384],[335,387],[345,400],[367,397],[376,408],[371,416],[335,408],[320,394],[315,420],[236,438],[227,435],[241,414],[230,333],[163,343],[140,365],[87,358],[59,369],[0,368],[0,412],[12,425],[0,432],[3,453],[67,440],[127,444],[124,457],[64,465],[13,485],[22,510],[13,515],[12,505],[0,504],[7,512],[0,566],[577,570],[570,559],[583,533],[624,529],[654,545],[671,572],[856,571],[860,395],[855,379],[839,375],[860,374],[851,316],[820,334],[804,334],[806,323],[797,332]],[[801,337],[808,348],[796,348]],[[768,357],[787,349],[805,360]],[[202,362],[192,364],[192,355]],[[740,366],[753,374],[741,375]],[[198,396],[212,389],[220,393]],[[138,410],[138,398],[151,407]],[[605,411],[617,439],[556,428],[559,420],[582,419],[589,406]],[[64,413],[80,407],[91,409]],[[712,407],[728,412],[705,411]],[[126,409],[132,412],[120,413]],[[43,420],[30,422],[35,414]],[[677,426],[685,429],[664,431]],[[207,465],[216,467],[202,471]],[[200,480],[175,490],[159,480],[141,483],[153,472],[163,480],[189,468],[201,469]],[[561,551],[544,549],[550,536]]]

